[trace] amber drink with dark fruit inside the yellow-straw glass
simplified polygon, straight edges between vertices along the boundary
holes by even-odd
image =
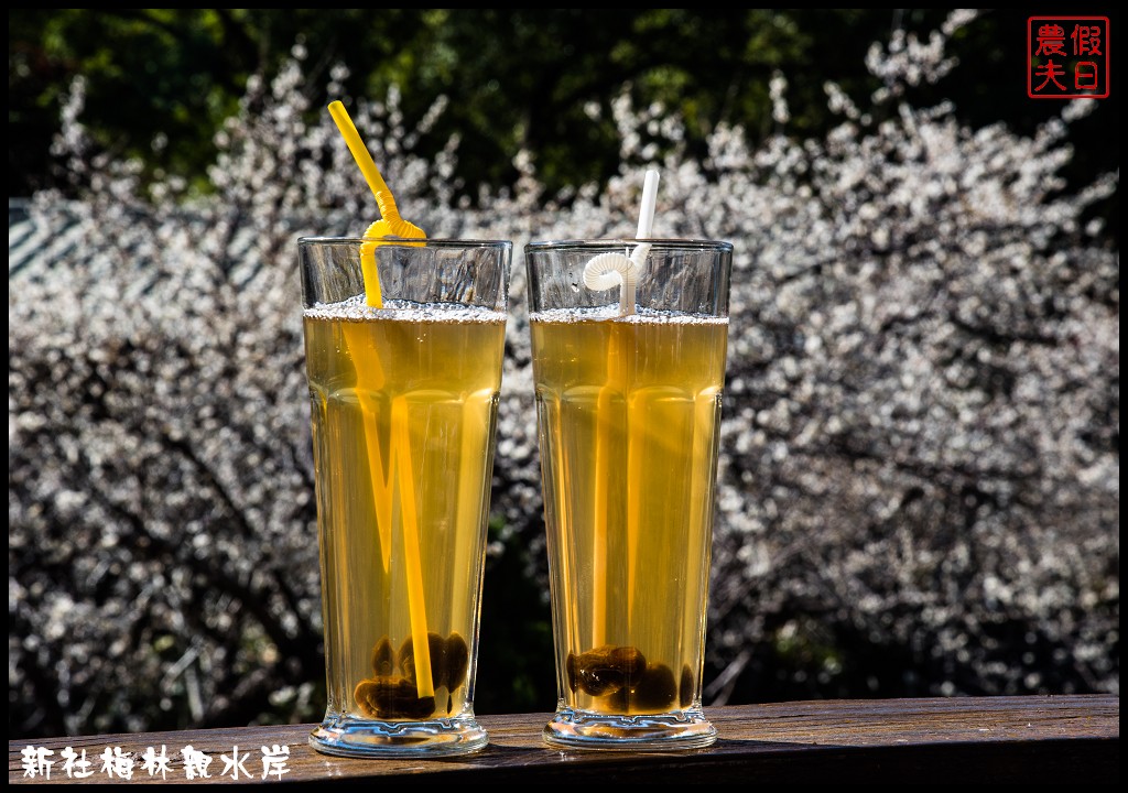
[[[326,723],[472,714],[505,316],[352,301],[303,321]]]

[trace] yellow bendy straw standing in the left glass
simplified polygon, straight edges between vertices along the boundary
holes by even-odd
[[[426,235],[421,228],[408,223],[399,217],[396,209],[396,200],[388,190],[388,185],[380,176],[372,156],[361,140],[356,126],[349,117],[349,112],[341,102],[329,103],[329,115],[336,122],[341,135],[345,139],[353,159],[360,166],[364,180],[376,196],[377,206],[380,209],[381,219],[368,227],[364,232],[365,238],[400,237],[408,239],[425,239]],[[373,308],[384,308],[384,296],[380,291],[380,275],[376,266],[376,246],[379,243],[365,240],[360,246],[361,272],[364,277],[364,293],[368,305]],[[356,362],[356,377],[360,390],[371,393],[377,390],[384,382],[384,368],[380,365],[379,355],[374,347],[353,350]],[[373,388],[374,386],[374,388]],[[385,570],[388,566],[388,553],[390,549],[390,527],[391,521],[390,503],[394,497],[390,479],[396,477],[399,484],[399,511],[403,525],[404,539],[404,564],[407,572],[407,611],[411,623],[412,651],[415,654],[415,688],[420,698],[434,696],[434,681],[431,675],[431,645],[428,641],[426,628],[426,605],[423,594],[423,566],[420,561],[420,535],[418,516],[415,509],[415,486],[413,482],[413,466],[411,451],[411,437],[407,433],[406,405],[400,404],[403,399],[397,399],[393,404],[391,430],[393,437],[388,443],[389,465],[385,473],[380,459],[379,441],[374,432],[365,432],[368,443],[369,466],[374,482],[374,495],[377,497],[376,511],[377,523],[380,530],[380,543],[385,554]],[[373,426],[376,416],[372,408],[364,405],[364,412],[369,414]],[[398,415],[397,415],[398,414]],[[387,521],[387,522],[385,522]]]

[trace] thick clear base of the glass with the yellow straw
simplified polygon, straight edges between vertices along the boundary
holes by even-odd
[[[336,719],[309,734],[309,746],[338,757],[444,757],[477,751],[488,742],[474,720],[435,719],[420,722],[380,722]]]

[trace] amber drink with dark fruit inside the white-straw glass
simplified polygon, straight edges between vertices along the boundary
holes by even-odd
[[[561,706],[699,710],[728,319],[529,324]]]

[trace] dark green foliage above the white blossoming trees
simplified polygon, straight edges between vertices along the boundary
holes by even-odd
[[[1107,11],[1105,11],[1107,12]],[[518,151],[532,152],[550,194],[603,183],[625,166],[610,103],[623,86],[644,106],[686,121],[689,152],[720,123],[763,139],[774,131],[767,83],[788,80],[788,132],[837,123],[823,82],[862,102],[879,87],[864,55],[895,28],[922,35],[944,9],[15,9],[9,12],[8,194],[56,183],[49,147],[60,97],[87,78],[85,113],[115,156],[141,157],[206,188],[212,138],[253,74],[272,74],[296,44],[311,85],[347,67],[346,100],[403,91],[408,127],[440,95],[448,111],[414,142],[432,158],[458,135],[455,194],[511,185]],[[1026,11],[996,9],[952,45],[960,65],[943,97],[972,125],[1030,132],[1058,108],[1025,96]],[[933,94],[936,89],[931,89]],[[925,103],[936,97],[922,88]],[[315,108],[329,98],[311,97]],[[1070,173],[1118,167],[1113,103],[1081,127]],[[660,135],[656,142],[662,143]]]

